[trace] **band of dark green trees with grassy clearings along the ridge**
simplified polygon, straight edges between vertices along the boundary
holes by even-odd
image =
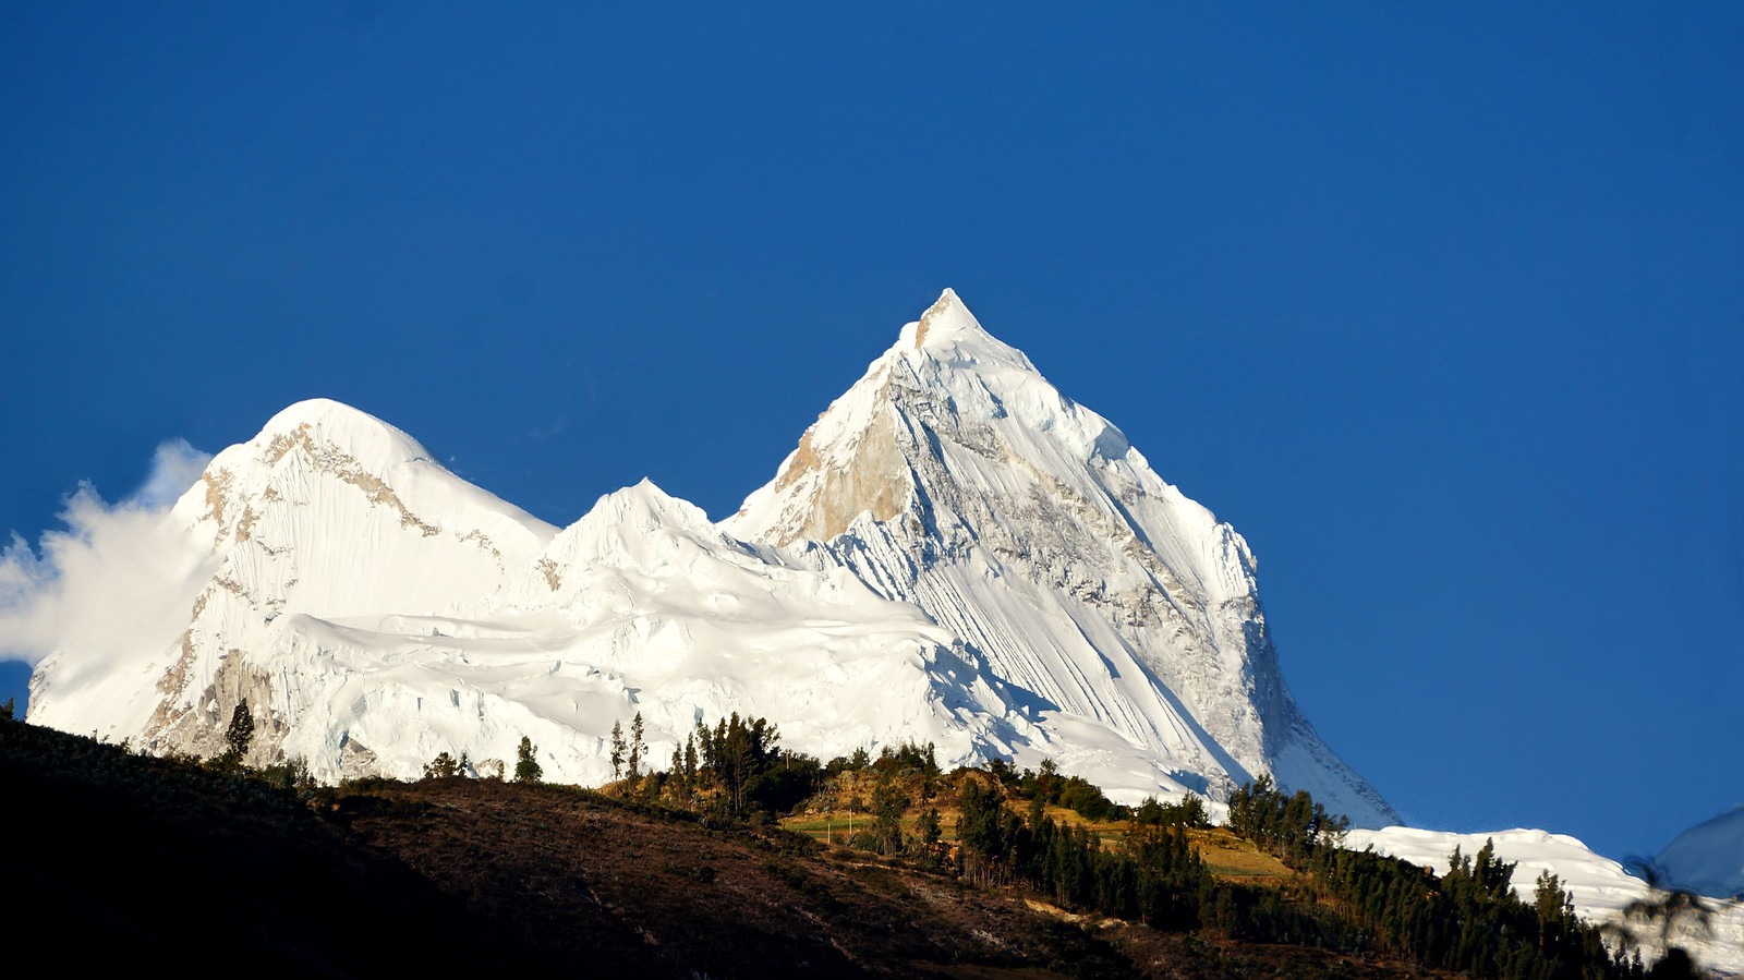
[[[523,748],[527,748],[523,739]],[[530,753],[523,752],[523,762]],[[1292,943],[1343,954],[1400,957],[1500,980],[1629,980],[1648,973],[1582,922],[1554,875],[1535,900],[1512,889],[1514,865],[1491,844],[1451,854],[1446,875],[1371,851],[1343,847],[1350,821],[1308,792],[1284,793],[1270,776],[1235,790],[1228,830],[1273,854],[1294,874],[1277,884],[1212,875],[1195,832],[1210,825],[1203,802],[1155,799],[1137,807],[1107,800],[1095,785],[1052,760],[1017,771],[1008,762],[947,779],[931,745],[886,746],[821,762],[780,746],[767,718],[732,713],[701,720],[666,769],[647,766],[642,717],[612,729],[619,795],[710,818],[767,820],[813,799],[844,772],[874,779],[869,821],[849,839],[865,851],[907,856],[982,888],[1018,888],[1062,909],[1144,922],[1163,931],[1209,931],[1242,942]],[[537,776],[534,776],[537,778]],[[942,842],[935,802],[954,786],[961,806],[957,847]],[[1048,807],[1087,820],[1125,821],[1114,844]],[[903,830],[919,807],[914,830]]]

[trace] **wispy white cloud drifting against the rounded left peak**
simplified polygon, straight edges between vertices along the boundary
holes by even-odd
[[[0,659],[35,664],[65,650],[96,666],[174,642],[204,556],[167,516],[209,459],[169,439],[131,497],[108,504],[84,483],[61,511],[65,530],[44,532],[35,549],[14,532],[0,549]]]

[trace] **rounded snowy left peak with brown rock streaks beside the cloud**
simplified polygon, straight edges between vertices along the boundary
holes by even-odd
[[[213,457],[164,527],[199,556],[199,577],[173,589],[188,603],[181,635],[141,638],[82,687],[54,664],[87,654],[56,650],[33,680],[33,720],[209,750],[239,696],[269,703],[274,666],[239,654],[283,650],[342,619],[378,626],[476,603],[556,534],[330,399],[291,405]]]

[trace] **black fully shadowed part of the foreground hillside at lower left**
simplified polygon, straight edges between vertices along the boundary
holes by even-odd
[[[375,977],[537,966],[453,896],[293,793],[0,722],[17,952],[58,970],[143,963]],[[495,949],[492,949],[495,947]],[[487,954],[488,950],[488,954]]]

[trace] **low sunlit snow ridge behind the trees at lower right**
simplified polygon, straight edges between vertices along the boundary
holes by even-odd
[[[1624,921],[1624,909],[1650,896],[1645,881],[1631,875],[1617,861],[1594,854],[1580,840],[1564,834],[1545,830],[1496,830],[1493,834],[1453,834],[1446,830],[1418,830],[1411,827],[1385,827],[1380,830],[1352,830],[1345,837],[1345,846],[1353,851],[1374,847],[1378,854],[1388,854],[1446,874],[1449,856],[1458,847],[1470,858],[1484,842],[1495,844],[1496,858],[1516,863],[1514,893],[1524,902],[1533,900],[1538,875],[1554,874],[1563,891],[1575,903],[1575,912],[1594,924],[1617,924]],[[1650,940],[1653,929],[1634,929],[1643,940]],[[1744,907],[1714,903],[1714,914],[1706,931],[1692,924],[1679,928],[1671,938],[1672,945],[1681,945],[1704,968],[1721,977],[1744,977]],[[1657,943],[1650,942],[1643,956],[1659,956]]]

